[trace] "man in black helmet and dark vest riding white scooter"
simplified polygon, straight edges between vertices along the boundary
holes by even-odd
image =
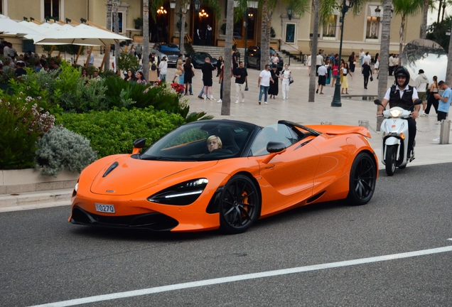
[[[409,72],[407,68],[399,66],[394,71],[394,77],[396,85],[389,87],[384,99],[382,100],[382,106],[378,107],[377,115],[382,115],[384,107],[389,102],[389,108],[401,107],[402,109],[409,110],[413,107],[414,100],[418,99],[417,91],[414,87],[408,85]],[[414,111],[411,113],[411,118],[408,121],[408,156],[411,156],[413,150],[414,138],[416,137],[416,118],[419,117],[419,104],[414,106]]]

